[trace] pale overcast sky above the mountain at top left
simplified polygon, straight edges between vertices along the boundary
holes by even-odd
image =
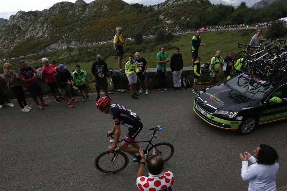
[[[51,7],[55,3],[61,1],[70,1],[75,3],[75,0],[1,0],[0,3],[0,13],[3,12],[13,12],[13,11],[42,11],[47,7]],[[92,0],[84,0],[86,3],[90,3]],[[129,3],[134,0],[124,0]],[[140,1],[140,0],[139,0]]]

